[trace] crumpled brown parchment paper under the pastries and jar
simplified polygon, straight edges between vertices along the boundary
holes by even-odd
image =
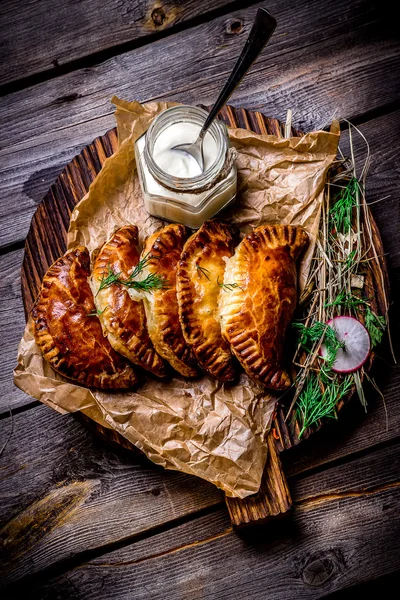
[[[144,209],[134,141],[156,114],[173,103],[141,105],[117,98],[113,102],[119,148],[73,211],[69,248],[84,244],[93,252],[128,223],[139,226],[143,241],[164,224]],[[221,218],[238,223],[242,232],[265,222],[299,224],[315,239],[326,173],[337,152],[337,124],[331,132],[302,138],[278,139],[243,129],[229,133],[238,152],[238,197]],[[300,287],[312,247],[302,261]],[[207,479],[229,496],[244,498],[260,486],[275,397],[244,373],[236,385],[177,375],[167,382],[146,377],[135,392],[91,391],[68,382],[43,361],[30,319],[14,381],[55,410],[82,411],[118,431],[155,463]]]

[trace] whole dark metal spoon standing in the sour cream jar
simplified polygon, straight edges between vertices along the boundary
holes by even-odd
[[[275,27],[276,21],[274,17],[270,15],[265,8],[259,8],[242,53],[239,56],[224,89],[210,110],[208,117],[201,128],[199,137],[192,144],[179,144],[171,148],[172,150],[189,154],[199,164],[201,172],[204,171],[203,140],[207,129],[217,116],[218,112],[227,102],[233,90],[250,69],[251,65],[256,60],[257,56],[260,54],[261,50],[264,48],[271,35],[275,31]]]

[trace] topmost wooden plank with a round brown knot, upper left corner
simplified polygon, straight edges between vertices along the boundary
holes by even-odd
[[[133,5],[132,5],[133,4]],[[0,7],[0,84],[53,71],[86,56],[108,58],[121,47],[150,42],[163,32],[211,11],[229,11],[227,0],[110,0],[99,6],[90,0],[54,3],[3,0]],[[45,32],[45,38],[43,36]],[[115,48],[116,46],[116,48]],[[113,48],[114,47],[114,48]]]

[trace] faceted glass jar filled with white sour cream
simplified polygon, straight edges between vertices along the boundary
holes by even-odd
[[[194,142],[207,113],[175,106],[160,113],[135,144],[144,204],[154,216],[198,228],[236,195],[236,167],[225,125],[214,121],[203,141],[205,169],[172,148]]]

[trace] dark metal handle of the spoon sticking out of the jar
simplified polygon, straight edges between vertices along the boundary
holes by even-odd
[[[199,137],[202,138],[214,120],[220,109],[227,102],[228,98],[232,94],[233,90],[242,80],[244,75],[250,69],[265,44],[270,39],[271,35],[275,31],[276,21],[272,15],[265,8],[259,8],[254,19],[253,27],[251,28],[249,37],[244,45],[241,55],[239,56],[237,63],[225,84],[222,92],[218,96],[218,99],[202,127]]]

